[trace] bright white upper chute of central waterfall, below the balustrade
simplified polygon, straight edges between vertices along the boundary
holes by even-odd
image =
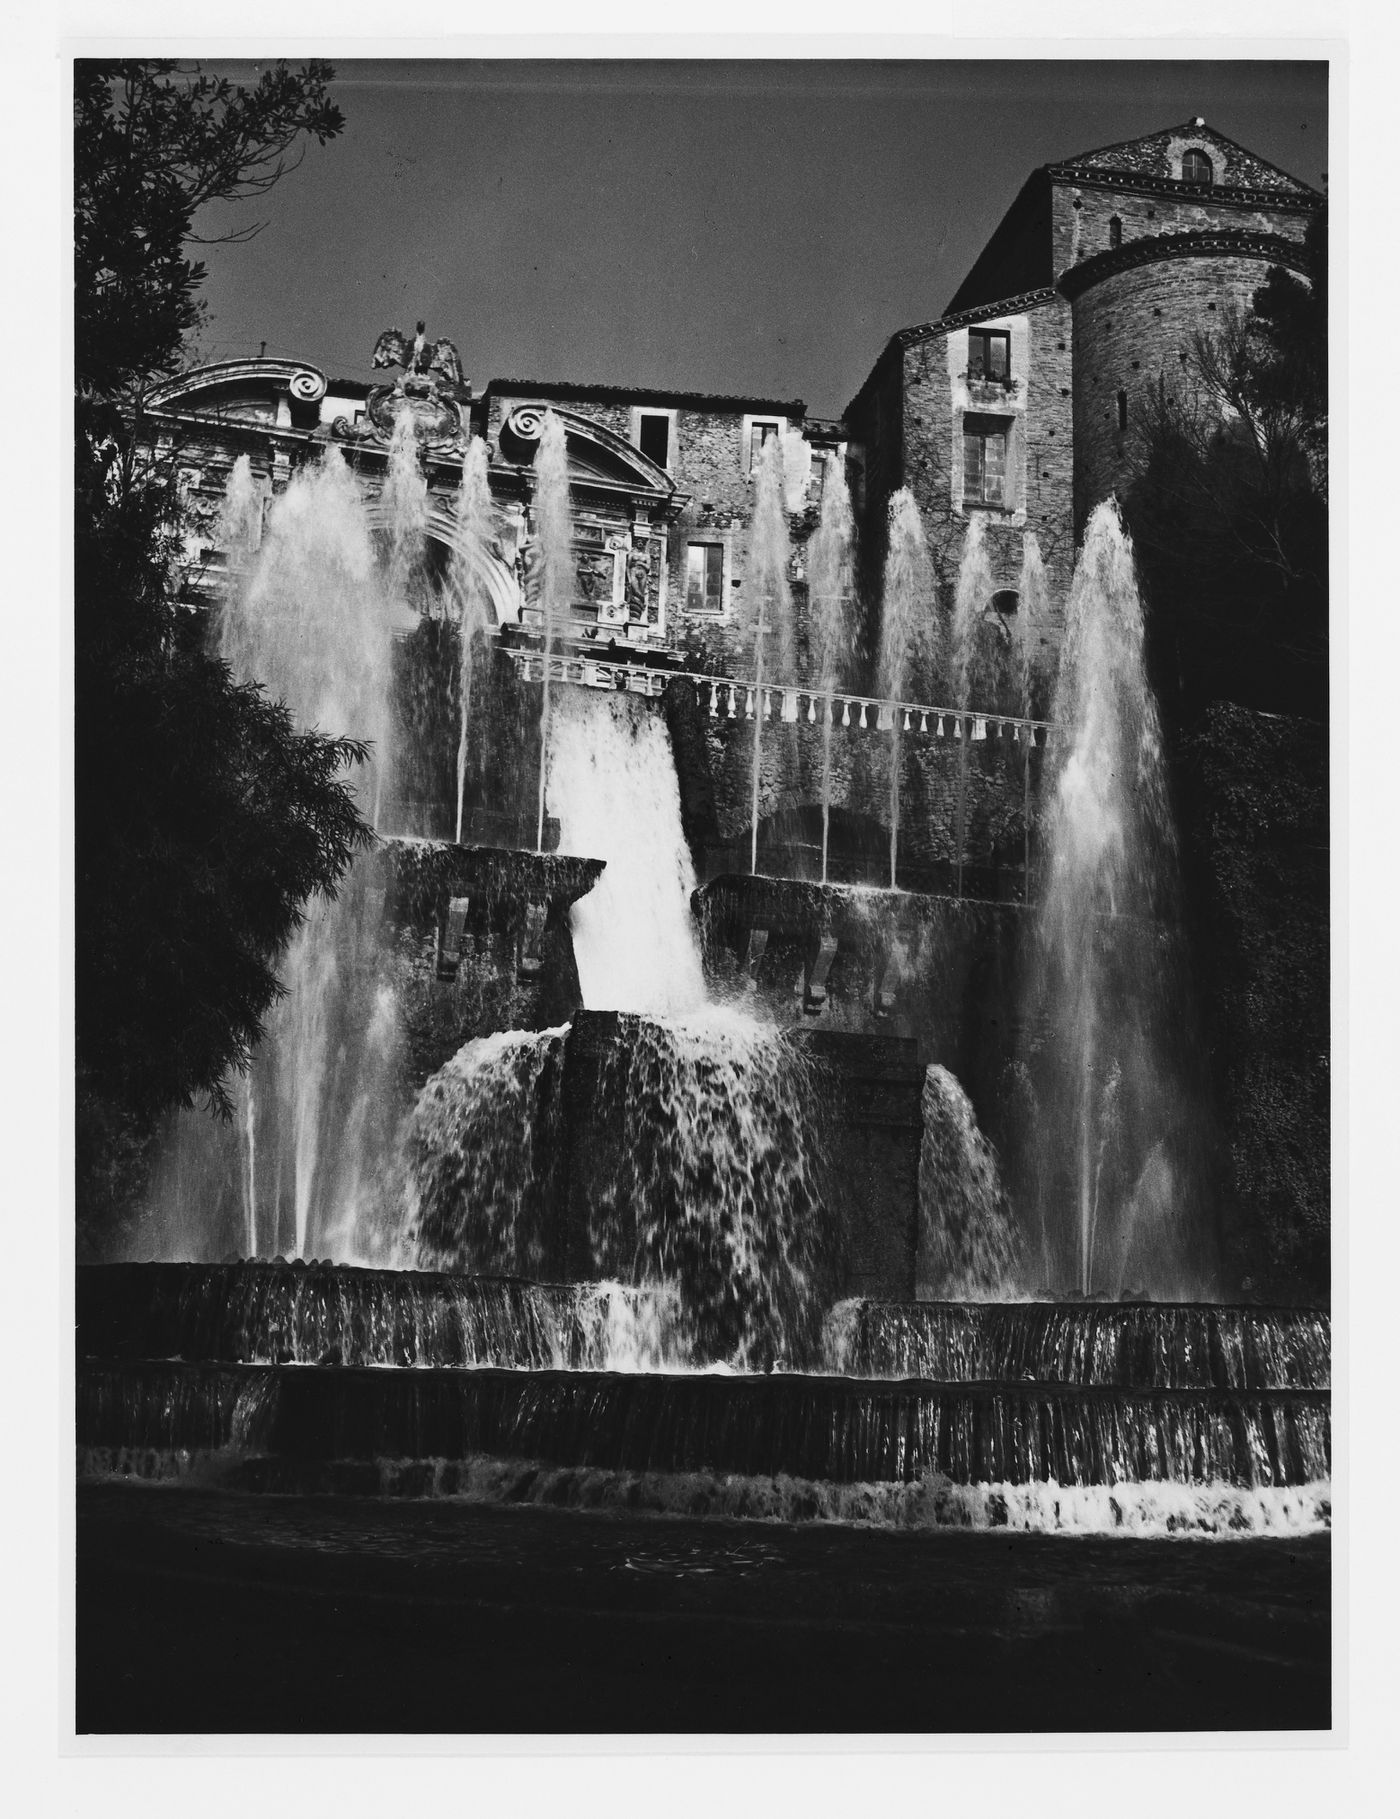
[[[695,868],[665,722],[636,695],[565,689],[549,735],[560,851],[605,860],[573,906],[585,1010],[680,1017],[705,1002]]]

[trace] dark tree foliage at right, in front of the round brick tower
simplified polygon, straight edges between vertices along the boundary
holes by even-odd
[[[1325,222],[1149,393],[1124,500],[1169,719],[1327,711]]]

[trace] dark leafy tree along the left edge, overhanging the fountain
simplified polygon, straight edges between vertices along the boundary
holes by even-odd
[[[196,211],[265,191],[333,138],[331,69],[251,91],[175,64],[82,62],[76,175],[76,1050],[80,1173],[247,1060],[305,900],[373,835],[355,739],[298,731],[235,682],[180,597],[175,453],[140,393],[198,320]],[[113,1133],[118,1133],[113,1137]],[[84,1151],[84,1139],[91,1139]],[[95,1191],[102,1191],[96,1188]],[[82,1193],[82,1186],[80,1186]]]

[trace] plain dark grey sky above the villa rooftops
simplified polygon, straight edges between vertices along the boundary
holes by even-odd
[[[256,65],[218,65],[249,80]],[[344,135],[205,251],[207,358],[573,378],[838,415],[1038,164],[1193,115],[1320,187],[1318,62],[340,62]],[[209,231],[229,220],[209,211]]]

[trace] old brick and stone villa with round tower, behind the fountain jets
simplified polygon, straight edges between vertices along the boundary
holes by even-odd
[[[462,457],[467,437],[482,437],[496,509],[482,582],[498,626],[529,626],[531,464],[544,411],[553,409],[569,457],[578,649],[742,677],[751,662],[740,637],[751,475],[778,438],[798,662],[805,544],[825,478],[844,466],[860,531],[865,651],[889,500],[909,487],[944,606],[967,529],[984,520],[993,582],[985,611],[1015,637],[1027,637],[1013,622],[1035,535],[1049,600],[1027,642],[1049,673],[1078,533],[1095,502],[1129,475],[1144,391],[1178,384],[1193,335],[1247,307],[1271,266],[1305,269],[1304,233],[1322,207],[1318,191],[1200,118],[1047,164],[1025,182],[947,311],[889,340],[840,422],[809,417],[800,398],[573,378],[493,378],[473,391],[465,380],[429,375],[427,389],[418,386],[409,400],[429,480],[427,537],[460,548]],[[158,387],[158,435],[178,447],[196,506],[195,593],[218,588],[215,524],[240,453],[271,497],[298,462],[336,442],[373,491],[402,404],[402,380],[371,387],[273,358],[220,362]]]

